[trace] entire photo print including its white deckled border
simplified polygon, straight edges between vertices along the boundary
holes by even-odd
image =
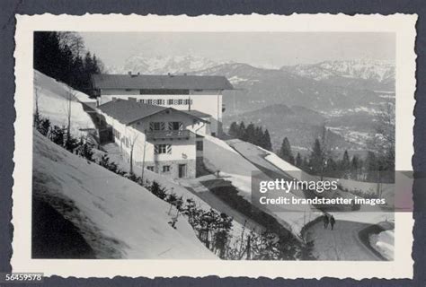
[[[412,277],[416,20],[17,16],[13,274]]]

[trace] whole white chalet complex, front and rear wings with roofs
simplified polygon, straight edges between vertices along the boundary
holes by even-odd
[[[203,135],[222,132],[223,76],[94,74],[102,126],[131,167],[195,178]]]

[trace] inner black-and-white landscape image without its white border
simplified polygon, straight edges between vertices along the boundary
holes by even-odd
[[[35,31],[32,151],[34,259],[392,261],[395,33]]]

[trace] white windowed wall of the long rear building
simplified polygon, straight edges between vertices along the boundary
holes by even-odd
[[[188,110],[188,105],[170,105],[167,100],[188,100],[191,99],[191,109],[209,114],[210,132],[219,135],[222,123],[222,92],[220,90],[190,90],[189,95],[140,95],[139,90],[102,90],[100,104],[109,102],[112,98],[129,100],[136,98],[137,100],[164,100],[161,106],[173,109]]]

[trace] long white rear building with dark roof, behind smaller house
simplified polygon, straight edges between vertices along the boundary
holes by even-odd
[[[93,88],[98,104],[112,100],[137,102],[209,115],[209,133],[222,133],[224,105],[222,92],[233,90],[224,76],[155,75],[155,74],[93,74]]]

